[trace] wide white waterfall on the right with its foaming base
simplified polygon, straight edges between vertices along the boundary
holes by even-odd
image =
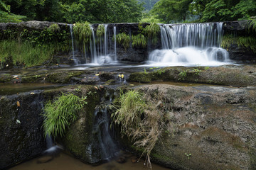
[[[220,47],[223,23],[190,23],[161,27],[163,50],[154,50],[149,61],[158,65],[220,65],[228,52]]]

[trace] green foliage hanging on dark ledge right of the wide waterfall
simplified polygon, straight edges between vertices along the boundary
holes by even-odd
[[[221,42],[221,47],[228,49],[230,45],[237,44],[238,47],[248,48],[256,52],[256,38],[253,36],[234,36],[224,35]]]

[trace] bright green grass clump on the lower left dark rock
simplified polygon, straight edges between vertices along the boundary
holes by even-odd
[[[45,136],[63,137],[65,130],[70,123],[78,118],[78,113],[87,104],[85,98],[80,98],[73,94],[62,94],[55,101],[49,101],[43,108],[43,129]]]

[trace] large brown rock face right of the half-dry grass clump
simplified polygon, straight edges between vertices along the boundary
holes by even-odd
[[[255,87],[156,84],[135,89],[154,103],[161,101],[164,111],[165,128],[151,160],[171,169],[254,169]]]

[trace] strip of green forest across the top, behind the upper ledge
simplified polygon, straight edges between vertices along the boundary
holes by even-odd
[[[256,16],[255,0],[0,0],[0,22],[184,23]]]

